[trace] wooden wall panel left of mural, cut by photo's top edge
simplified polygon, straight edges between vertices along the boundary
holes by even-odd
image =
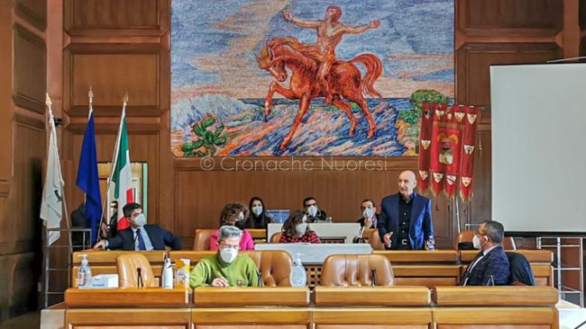
[[[158,28],[160,0],[67,0],[74,29]]]

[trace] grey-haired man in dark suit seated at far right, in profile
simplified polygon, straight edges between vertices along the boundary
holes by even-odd
[[[481,249],[462,276],[461,286],[507,285],[510,271],[505,249],[500,245],[505,229],[497,221],[485,220],[473,238],[474,248]]]

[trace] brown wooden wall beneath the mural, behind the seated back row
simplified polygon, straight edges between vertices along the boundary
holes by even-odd
[[[397,192],[402,170],[206,172],[179,168],[174,184],[177,232],[188,238],[195,228],[218,227],[224,203],[248,205],[252,196],[260,196],[267,209],[301,209],[303,199],[313,196],[334,222],[353,222],[361,217],[362,200],[370,198],[380,207],[383,197]],[[447,243],[451,242],[451,223],[446,208],[443,198],[434,201],[436,236]]]

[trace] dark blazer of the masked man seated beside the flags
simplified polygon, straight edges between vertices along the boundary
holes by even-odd
[[[170,233],[168,230],[158,225],[145,225],[142,227],[151,239],[151,244],[155,250],[165,250],[169,245],[172,250],[181,250],[181,238]],[[128,227],[118,234],[108,239],[108,249],[134,250],[133,229]]]

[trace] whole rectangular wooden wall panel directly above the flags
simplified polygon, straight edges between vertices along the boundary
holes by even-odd
[[[159,106],[157,54],[74,54],[73,106],[87,107],[87,91],[94,89],[94,104],[121,107],[124,93],[133,106]]]

